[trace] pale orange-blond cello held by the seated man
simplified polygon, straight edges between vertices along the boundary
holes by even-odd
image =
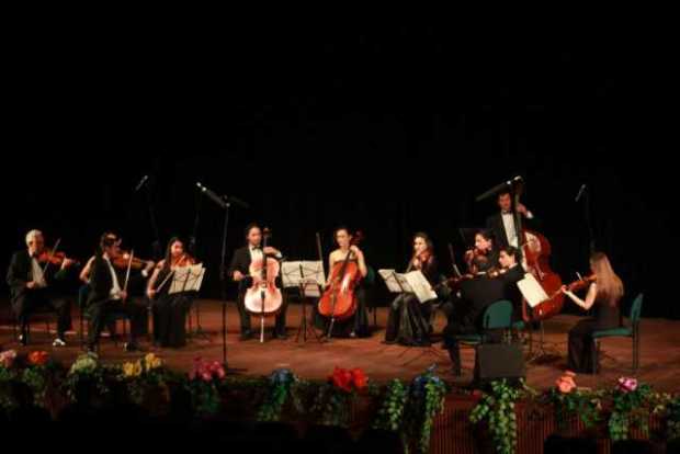
[[[260,316],[260,342],[264,342],[264,317],[275,316],[283,305],[283,295],[276,287],[281,266],[276,259],[264,253],[271,230],[264,228],[262,236],[262,259],[250,263],[249,274],[252,277],[252,285],[246,292],[243,300],[246,310]]]

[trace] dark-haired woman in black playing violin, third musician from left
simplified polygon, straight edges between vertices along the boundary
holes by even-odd
[[[184,250],[184,242],[174,237],[168,242],[166,258],[158,262],[147,284],[147,296],[154,313],[154,341],[160,347],[180,348],[186,344],[186,313],[193,295],[168,293],[174,270],[195,264]]]

